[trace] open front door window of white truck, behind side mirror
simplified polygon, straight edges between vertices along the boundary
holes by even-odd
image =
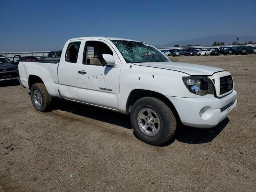
[[[112,50],[103,42],[87,41],[84,46],[83,64],[100,65],[106,62],[102,54],[113,55]]]

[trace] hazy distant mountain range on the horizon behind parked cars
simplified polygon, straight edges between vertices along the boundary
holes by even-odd
[[[232,44],[233,41],[236,41],[236,38],[239,38],[238,43],[243,44],[244,42],[256,42],[256,36],[236,36],[236,35],[218,35],[218,36],[210,36],[210,37],[202,37],[190,40],[181,40],[181,41],[173,41],[164,45],[157,45],[156,47],[173,47],[176,44],[180,46],[186,46],[188,44],[199,44],[199,45],[212,45],[215,41],[224,42],[225,45]]]

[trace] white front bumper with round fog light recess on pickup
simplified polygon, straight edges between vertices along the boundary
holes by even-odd
[[[224,120],[236,107],[237,93],[234,90],[222,98],[167,98],[176,108],[182,124],[198,127],[211,128]]]

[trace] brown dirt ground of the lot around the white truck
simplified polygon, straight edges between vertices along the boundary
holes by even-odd
[[[256,54],[180,56],[230,71],[236,110],[211,129],[182,126],[164,146],[138,140],[129,116],[0,84],[0,192],[256,191]],[[74,174],[74,177],[70,177]]]

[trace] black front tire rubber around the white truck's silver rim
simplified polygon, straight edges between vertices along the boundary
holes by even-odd
[[[159,116],[160,130],[154,136],[148,136],[143,133],[138,125],[137,117],[142,108],[150,108]],[[168,142],[174,135],[177,126],[172,110],[164,102],[153,97],[143,97],[137,100],[132,106],[130,119],[134,134],[140,140],[152,145],[160,145]]]

